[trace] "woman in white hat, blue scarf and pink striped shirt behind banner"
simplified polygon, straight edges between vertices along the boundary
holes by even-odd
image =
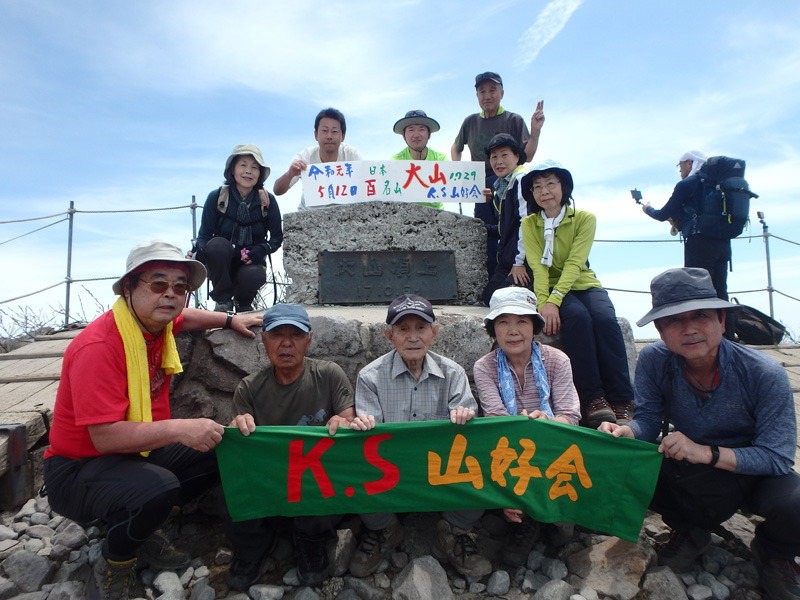
[[[527,415],[531,419],[577,425],[580,402],[566,354],[533,341],[544,327],[530,290],[497,290],[483,320],[497,348],[475,362],[475,385],[487,417]],[[503,562],[524,565],[539,538],[539,523],[519,509],[503,511],[511,521],[501,552]]]

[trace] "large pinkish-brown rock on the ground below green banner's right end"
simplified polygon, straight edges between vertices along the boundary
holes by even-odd
[[[630,600],[654,557],[649,547],[609,538],[567,558],[567,567],[600,594]]]

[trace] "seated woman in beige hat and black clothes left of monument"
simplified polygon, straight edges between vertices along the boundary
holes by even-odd
[[[240,144],[225,163],[225,185],[203,206],[197,250],[208,269],[214,310],[246,312],[267,281],[266,258],[283,243],[281,211],[264,189],[269,167],[254,144]]]

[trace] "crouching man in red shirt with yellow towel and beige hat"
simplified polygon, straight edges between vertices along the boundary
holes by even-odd
[[[87,583],[89,598],[128,598],[136,557],[177,569],[190,556],[157,531],[173,507],[219,479],[211,419],[172,419],[169,387],[182,371],[174,334],[215,327],[255,337],[258,315],[184,308],[206,270],[160,241],[131,250],[119,295],[64,353],[44,479],[50,506],[108,534]]]

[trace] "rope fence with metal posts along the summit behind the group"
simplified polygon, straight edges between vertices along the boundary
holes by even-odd
[[[25,222],[28,222],[28,221],[39,221],[39,220],[44,220],[44,219],[52,219],[52,218],[55,218],[55,217],[60,217],[62,215],[66,215],[66,217],[64,217],[63,219],[59,219],[58,221],[55,221],[53,223],[49,223],[49,224],[47,224],[47,225],[45,225],[43,227],[39,227],[38,229],[34,229],[32,231],[29,231],[27,233],[23,233],[21,235],[18,235],[16,237],[10,238],[8,240],[4,240],[4,241],[0,242],[0,246],[2,246],[4,244],[7,244],[9,242],[13,242],[15,240],[18,240],[18,239],[20,239],[22,237],[31,235],[33,233],[42,231],[43,229],[47,229],[48,227],[52,227],[53,225],[57,225],[59,223],[63,223],[64,221],[69,221],[69,240],[68,240],[68,248],[67,248],[67,275],[64,278],[64,280],[63,281],[59,281],[57,283],[54,283],[53,285],[49,285],[49,286],[47,286],[45,288],[42,288],[40,290],[36,290],[36,291],[30,292],[30,293],[27,293],[27,294],[23,294],[21,296],[16,296],[14,298],[8,298],[6,300],[0,300],[0,305],[8,304],[9,302],[15,302],[17,300],[22,300],[24,298],[29,298],[31,296],[35,296],[35,295],[40,294],[42,292],[46,292],[47,290],[51,290],[53,288],[56,288],[56,287],[58,287],[60,285],[66,285],[67,286],[67,302],[66,302],[66,310],[65,310],[65,326],[67,326],[69,324],[69,294],[70,294],[69,287],[70,287],[70,285],[72,283],[88,283],[88,282],[92,282],[92,281],[110,281],[110,280],[117,279],[117,277],[92,277],[92,278],[85,278],[85,279],[73,279],[71,277],[71,270],[72,270],[72,228],[73,228],[73,218],[74,218],[75,214],[80,213],[80,214],[87,214],[87,215],[100,215],[100,214],[146,213],[146,212],[160,212],[160,211],[169,211],[169,210],[184,210],[184,209],[187,209],[187,208],[192,213],[192,241],[194,242],[197,239],[197,230],[196,230],[196,223],[197,223],[197,218],[196,217],[197,217],[197,215],[196,215],[196,210],[199,208],[198,204],[195,202],[195,197],[194,196],[192,196],[192,203],[191,204],[184,204],[184,205],[181,205],[181,206],[168,206],[168,207],[159,207],[159,208],[139,208],[139,209],[127,209],[127,210],[78,210],[78,209],[74,208],[74,202],[70,202],[70,208],[65,212],[60,212],[60,213],[56,213],[56,214],[53,214],[53,215],[47,215],[47,216],[43,216],[43,217],[29,217],[29,218],[26,218],[26,219],[15,219],[15,220],[10,220],[10,221],[0,221],[0,225],[9,225],[9,224],[14,224],[14,223],[25,223]],[[780,240],[782,242],[786,242],[788,244],[793,244],[795,246],[800,246],[800,242],[795,242],[795,241],[792,241],[792,240],[788,240],[786,238],[779,237],[777,235],[769,233],[767,225],[766,225],[766,223],[764,222],[763,219],[761,219],[761,224],[762,224],[762,228],[763,228],[763,233],[761,235],[740,236],[738,238],[734,238],[733,241],[738,242],[739,240],[753,240],[753,239],[763,239],[764,240],[764,243],[766,244],[766,252],[767,252],[767,277],[768,277],[767,287],[766,288],[753,289],[753,290],[742,290],[742,291],[737,291],[737,292],[729,292],[729,293],[730,293],[730,295],[738,295],[738,294],[753,294],[753,293],[758,293],[758,292],[767,292],[769,294],[769,299],[770,299],[770,316],[773,316],[773,305],[772,305],[772,294],[773,293],[780,294],[781,296],[783,296],[785,298],[789,298],[790,300],[794,300],[795,302],[800,302],[800,299],[795,298],[794,296],[791,296],[791,295],[786,294],[784,292],[781,292],[780,290],[777,290],[772,286],[771,266],[770,266],[770,257],[769,257],[769,239],[770,238],[775,238],[777,240]],[[594,240],[595,243],[610,243],[610,244],[675,244],[675,243],[681,243],[681,241],[682,240],[680,238],[677,238],[677,237],[675,239],[667,239],[667,240],[601,240],[601,239]],[[277,286],[285,287],[285,286],[289,285],[285,281],[278,281],[276,279],[276,277],[275,277],[274,271],[273,271],[273,280],[272,281],[267,281],[267,284],[272,285],[273,289],[275,289],[275,290],[277,290]],[[628,290],[628,289],[611,288],[611,287],[607,287],[605,289],[607,289],[608,291],[612,291],[612,292],[622,292],[622,293],[627,293],[627,294],[647,294],[647,295],[650,294],[649,290]],[[196,304],[199,304],[199,297],[196,296],[195,298],[196,298]]]

